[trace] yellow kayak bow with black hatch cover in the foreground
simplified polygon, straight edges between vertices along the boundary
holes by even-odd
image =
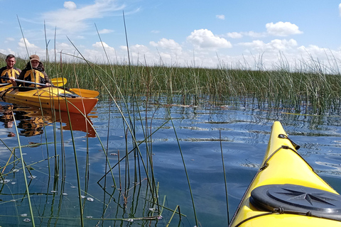
[[[341,196],[298,155],[281,123],[230,226],[341,226]]]

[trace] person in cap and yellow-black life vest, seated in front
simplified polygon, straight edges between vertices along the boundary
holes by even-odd
[[[41,87],[40,85],[34,83],[45,84],[45,87],[51,86],[43,63],[40,62],[40,58],[38,55],[30,56],[30,61],[27,63],[25,69],[23,69],[23,71],[20,73],[18,79],[26,80],[27,82],[33,82],[18,82],[18,85],[21,85],[23,87]]]

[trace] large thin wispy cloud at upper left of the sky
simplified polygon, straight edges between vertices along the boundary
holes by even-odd
[[[41,15],[41,19],[48,26],[56,26],[62,33],[77,33],[88,28],[87,19],[103,18],[113,11],[124,9],[124,5],[117,6],[115,0],[96,0],[94,4],[77,7],[73,1],[65,1],[64,8],[48,11]],[[72,12],[70,12],[72,11]]]

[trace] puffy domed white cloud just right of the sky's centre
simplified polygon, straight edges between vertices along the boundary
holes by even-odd
[[[189,43],[196,48],[202,49],[218,49],[232,48],[232,44],[224,38],[214,35],[212,31],[207,29],[195,30],[187,37]]]

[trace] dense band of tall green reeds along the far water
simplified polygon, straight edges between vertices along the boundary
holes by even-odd
[[[17,66],[23,64],[18,61]],[[65,77],[67,86],[94,89],[104,98],[109,93],[119,97],[134,92],[159,104],[232,105],[248,100],[256,108],[293,109],[304,114],[339,114],[341,110],[340,73],[325,70],[316,61],[304,62],[294,70],[286,64],[278,70],[249,70],[102,65],[82,60],[45,62],[45,67],[50,77]]]

